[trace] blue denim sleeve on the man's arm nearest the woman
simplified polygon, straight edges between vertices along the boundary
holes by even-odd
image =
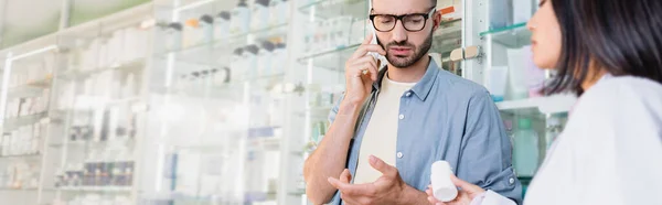
[[[469,99],[466,120],[458,177],[521,204],[522,186],[512,168],[512,144],[487,90]]]

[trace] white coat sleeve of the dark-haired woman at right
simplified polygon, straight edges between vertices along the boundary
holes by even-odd
[[[662,93],[637,82],[605,83],[581,97],[567,127],[574,197],[578,204],[662,204]]]

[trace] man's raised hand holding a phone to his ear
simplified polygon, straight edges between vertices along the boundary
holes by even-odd
[[[371,44],[373,35],[367,35],[361,46],[345,63],[345,100],[361,105],[370,95],[373,82],[377,80],[378,62],[369,52],[386,55],[381,45]]]

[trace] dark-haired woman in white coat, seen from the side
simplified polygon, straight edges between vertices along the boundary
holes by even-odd
[[[662,0],[541,0],[527,28],[534,63],[558,74],[546,94],[579,99],[524,204],[662,204]],[[514,204],[451,180],[455,201],[428,201]]]

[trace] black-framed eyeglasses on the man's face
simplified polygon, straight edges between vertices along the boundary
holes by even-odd
[[[405,30],[409,32],[417,32],[425,29],[427,20],[433,13],[435,13],[435,8],[431,8],[428,13],[409,13],[404,15],[371,14],[370,20],[372,21],[375,30],[380,32],[393,31],[393,29],[395,29],[395,24],[397,24],[397,20],[403,23]]]

